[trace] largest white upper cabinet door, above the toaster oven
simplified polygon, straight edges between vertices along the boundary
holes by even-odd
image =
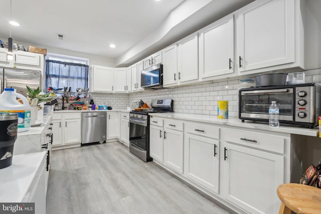
[[[255,1],[238,12],[238,71],[294,62],[294,2]]]

